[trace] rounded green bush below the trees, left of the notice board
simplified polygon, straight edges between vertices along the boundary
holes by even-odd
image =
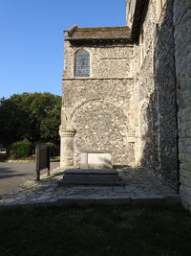
[[[32,143],[25,139],[11,144],[9,157],[11,159],[26,158],[32,154]]]

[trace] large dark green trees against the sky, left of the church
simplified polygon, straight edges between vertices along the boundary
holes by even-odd
[[[9,145],[28,139],[32,143],[59,143],[61,97],[51,93],[14,94],[0,100],[0,142]]]

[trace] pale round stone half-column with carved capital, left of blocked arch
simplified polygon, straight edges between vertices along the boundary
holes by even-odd
[[[74,130],[60,131],[61,137],[61,158],[60,167],[73,166],[74,165]]]

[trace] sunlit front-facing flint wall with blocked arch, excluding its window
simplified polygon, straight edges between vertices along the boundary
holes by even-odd
[[[74,78],[74,53],[90,53],[91,77]],[[135,162],[132,45],[83,45],[66,42],[62,111],[76,130],[74,165],[82,151],[111,151],[112,164]]]

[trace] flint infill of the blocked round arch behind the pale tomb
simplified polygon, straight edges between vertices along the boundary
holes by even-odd
[[[71,115],[74,137],[74,163],[80,162],[80,152],[111,151],[113,163],[129,161],[127,144],[128,117],[123,109],[109,101],[95,99],[77,105]]]

